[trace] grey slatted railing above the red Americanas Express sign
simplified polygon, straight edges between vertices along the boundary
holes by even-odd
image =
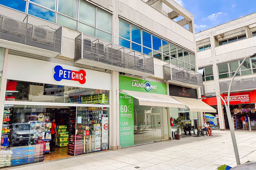
[[[230,81],[231,80],[219,82],[221,93],[228,92]],[[241,78],[241,79],[234,80],[231,85],[230,91],[242,91],[242,90],[253,90],[253,89],[256,89],[256,77]]]

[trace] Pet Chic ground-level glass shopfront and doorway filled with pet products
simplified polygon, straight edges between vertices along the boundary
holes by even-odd
[[[108,108],[5,105],[3,114],[0,167],[108,149]]]

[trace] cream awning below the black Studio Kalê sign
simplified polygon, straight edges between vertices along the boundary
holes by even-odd
[[[191,98],[185,98],[185,97],[176,97],[172,96],[174,99],[180,101],[181,103],[184,103],[187,107],[189,107],[189,110],[192,112],[211,112],[216,113],[216,109],[212,108],[211,106],[207,105],[201,99],[191,99]]]

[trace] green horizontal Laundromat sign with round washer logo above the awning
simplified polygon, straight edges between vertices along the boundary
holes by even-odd
[[[167,94],[166,84],[126,76],[119,76],[119,89],[157,94]]]

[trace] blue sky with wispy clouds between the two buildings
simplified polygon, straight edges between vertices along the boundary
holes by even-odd
[[[256,0],[176,1],[194,16],[195,33],[256,12]]]

